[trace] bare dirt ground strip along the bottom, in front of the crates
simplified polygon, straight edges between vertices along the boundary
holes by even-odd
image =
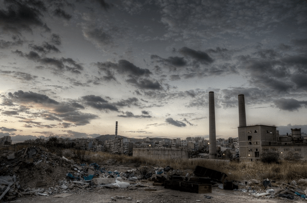
[[[64,197],[58,198],[54,195],[50,196],[34,196],[34,197],[22,197],[18,198],[21,202],[25,203],[40,203],[40,202],[63,202],[63,203],[78,203],[78,202],[93,202],[93,203],[102,203],[102,202],[114,202],[114,203],[123,203],[123,202],[152,202],[152,203],[161,203],[161,202],[170,202],[170,203],[179,203],[179,202],[303,202],[303,200],[289,200],[286,198],[255,198],[249,195],[248,193],[236,192],[230,190],[217,190],[216,187],[212,188],[212,193],[206,194],[196,194],[189,192],[180,192],[176,190],[164,189],[162,186],[157,186],[155,189],[157,191],[145,191],[142,188],[136,190],[129,189],[100,189],[96,188],[94,190],[80,190],[77,193]],[[210,195],[211,198],[206,198],[206,195]],[[122,199],[117,198],[116,196],[122,197]],[[114,197],[115,200],[112,199]],[[131,197],[131,200],[127,200],[123,197]]]

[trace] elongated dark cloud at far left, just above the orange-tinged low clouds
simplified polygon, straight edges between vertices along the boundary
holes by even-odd
[[[38,94],[35,92],[24,92],[22,90],[19,90],[18,92],[8,93],[9,97],[16,101],[21,101],[24,103],[28,102],[34,102],[34,103],[45,103],[45,104],[59,104],[56,100],[49,98],[47,95],[44,94]]]

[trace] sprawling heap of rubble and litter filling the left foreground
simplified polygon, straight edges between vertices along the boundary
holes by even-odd
[[[169,179],[173,174],[186,173],[170,167],[126,169],[116,165],[116,162],[114,159],[106,160],[103,162],[104,167],[97,163],[80,164],[39,147],[24,148],[17,152],[3,151],[0,154],[0,200],[98,188],[137,189],[150,187],[147,179]]]

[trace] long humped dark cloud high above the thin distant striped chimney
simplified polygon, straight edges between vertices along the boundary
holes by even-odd
[[[96,66],[103,71],[108,71],[109,69],[116,70],[118,74],[131,74],[133,76],[149,76],[152,74],[148,69],[142,69],[128,62],[127,60],[121,59],[118,63],[106,62],[96,63]]]

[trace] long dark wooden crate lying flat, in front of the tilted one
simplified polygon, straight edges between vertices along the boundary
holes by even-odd
[[[165,180],[164,188],[193,193],[212,193],[211,184],[194,181]]]

